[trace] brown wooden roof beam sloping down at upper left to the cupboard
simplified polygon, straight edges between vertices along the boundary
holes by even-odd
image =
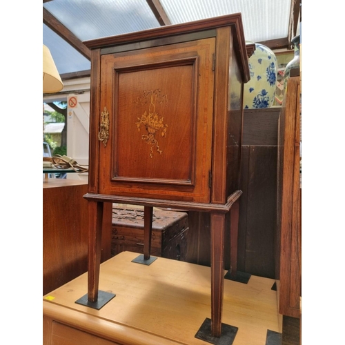
[[[63,25],[60,21],[58,21],[46,8],[43,7],[43,23],[48,26],[51,30],[53,30],[56,34],[58,34],[62,39],[64,39],[67,43],[75,48],[81,55],[86,57],[86,59],[91,59],[91,51],[88,47],[86,47],[83,42],[78,39],[73,32],[68,30],[66,26]]]

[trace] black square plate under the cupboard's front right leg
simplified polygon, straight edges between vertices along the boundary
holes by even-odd
[[[205,321],[197,331],[195,337],[197,339],[204,340],[204,342],[209,342],[210,344],[215,345],[232,345],[236,334],[238,331],[238,327],[230,326],[229,324],[221,324],[221,334],[220,337],[213,337],[211,334],[211,319],[206,317]]]

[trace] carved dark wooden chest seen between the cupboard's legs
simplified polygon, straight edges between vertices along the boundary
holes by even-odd
[[[186,261],[188,215],[185,212],[154,208],[151,254]],[[143,253],[144,208],[139,206],[112,208],[112,255],[125,250]]]

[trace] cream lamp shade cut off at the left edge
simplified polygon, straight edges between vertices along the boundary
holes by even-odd
[[[55,66],[50,50],[43,45],[43,93],[59,92],[63,83],[57,66]]]

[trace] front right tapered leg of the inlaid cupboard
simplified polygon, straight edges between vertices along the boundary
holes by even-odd
[[[224,293],[225,215],[211,214],[211,334],[221,335],[221,312]]]

